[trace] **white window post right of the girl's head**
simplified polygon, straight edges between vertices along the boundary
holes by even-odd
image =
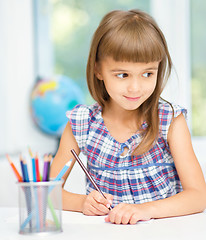
[[[190,111],[190,6],[188,0],[151,0],[152,15],[162,29],[174,70],[164,92],[166,98]],[[190,116],[189,116],[190,121]]]

